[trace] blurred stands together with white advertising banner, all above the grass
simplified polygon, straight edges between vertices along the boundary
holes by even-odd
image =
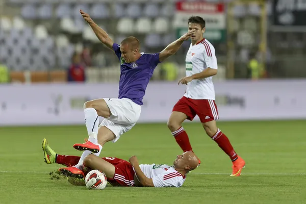
[[[0,86],[0,113],[7,115],[0,124],[82,124],[86,100],[117,97],[119,62],[98,41],[80,9],[117,43],[136,36],[146,53],[160,52],[187,31],[189,16],[200,15],[207,21],[205,37],[216,48],[219,68],[213,79],[221,119],[306,118],[306,82],[298,79],[306,77],[305,4],[0,0],[0,82],[9,84]],[[140,122],[167,121],[185,91],[175,83],[185,75],[189,44],[155,70]],[[10,113],[19,120],[9,120]]]

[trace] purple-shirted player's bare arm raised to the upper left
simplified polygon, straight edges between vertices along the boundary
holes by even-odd
[[[85,13],[82,10],[80,10],[80,13],[86,20],[86,22],[90,25],[97,38],[108,48],[113,50],[114,41],[110,38],[110,36],[90,18],[89,14]]]

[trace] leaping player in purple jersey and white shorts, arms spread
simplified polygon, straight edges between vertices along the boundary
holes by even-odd
[[[145,54],[140,53],[140,42],[137,38],[127,37],[118,45],[103,29],[98,27],[87,13],[82,10],[80,13],[97,38],[113,50],[121,63],[118,98],[100,98],[84,104],[85,124],[89,139],[83,144],[74,144],[73,147],[85,151],[77,165],[59,169],[67,176],[82,178],[84,158],[91,153],[99,156],[106,142],[116,142],[122,134],[132,129],[139,119],[141,105],[143,105],[142,98],[155,67],[176,53],[183,42],[194,34],[194,31],[172,42],[160,53]],[[98,116],[105,118],[100,125]]]

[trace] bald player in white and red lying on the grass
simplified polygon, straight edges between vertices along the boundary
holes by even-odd
[[[45,163],[74,166],[81,157],[59,155],[44,139],[42,143]],[[93,154],[85,157],[84,169],[78,173],[71,173],[72,177],[84,178],[92,169],[104,172],[108,182],[113,186],[136,186],[136,187],[181,187],[186,180],[186,174],[195,169],[198,159],[192,151],[178,155],[173,166],[166,164],[140,164],[136,156],[129,162],[115,157],[100,158]],[[71,182],[70,182],[71,183]],[[80,182],[79,182],[80,183]]]

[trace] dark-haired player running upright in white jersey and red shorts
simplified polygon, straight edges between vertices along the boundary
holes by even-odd
[[[231,176],[239,176],[245,162],[236,154],[230,140],[218,129],[216,123],[219,116],[212,78],[217,74],[218,65],[214,46],[203,38],[205,20],[199,16],[190,17],[188,30],[195,33],[191,36],[191,44],[186,56],[186,77],[179,81],[179,84],[186,84],[187,88],[185,95],[172,110],[167,123],[168,127],[182,150],[192,151],[182,123],[198,115],[207,135],[231,158],[233,162]]]

